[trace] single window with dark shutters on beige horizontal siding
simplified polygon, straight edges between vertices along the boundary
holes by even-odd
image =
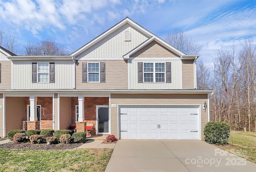
[[[82,82],[95,83],[106,82],[106,63],[105,62],[84,62],[82,63]]]

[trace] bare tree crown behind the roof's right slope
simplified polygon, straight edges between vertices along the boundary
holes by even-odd
[[[202,45],[198,45],[198,43],[192,41],[191,37],[178,29],[174,29],[173,33],[168,33],[165,39],[172,46],[189,55],[198,54],[202,48]]]

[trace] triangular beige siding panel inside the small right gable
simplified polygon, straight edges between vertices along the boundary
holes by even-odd
[[[179,57],[156,41],[152,41],[130,57]]]

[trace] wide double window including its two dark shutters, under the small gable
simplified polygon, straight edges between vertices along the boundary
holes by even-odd
[[[171,63],[138,62],[138,83],[171,83]]]

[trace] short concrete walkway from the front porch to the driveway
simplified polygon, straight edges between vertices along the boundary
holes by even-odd
[[[77,149],[87,149],[87,148],[106,148],[106,149],[114,149],[114,143],[103,144],[102,142],[106,139],[106,136],[100,137],[87,137],[86,143],[78,147]]]

